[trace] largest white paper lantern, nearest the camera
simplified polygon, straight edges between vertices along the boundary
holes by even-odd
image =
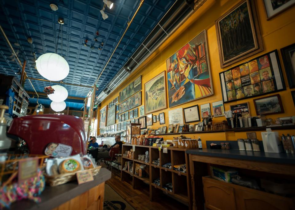
[[[56,53],[45,53],[36,61],[37,71],[50,81],[60,81],[69,74],[69,64]]]

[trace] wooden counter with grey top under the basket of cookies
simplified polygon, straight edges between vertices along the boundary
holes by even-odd
[[[11,204],[10,210],[103,210],[104,182],[111,178],[111,171],[101,168],[92,182],[78,185],[68,182],[59,186],[45,186],[41,193],[41,202],[29,200]]]

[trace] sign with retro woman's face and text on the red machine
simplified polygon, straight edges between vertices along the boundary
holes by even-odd
[[[45,155],[51,157],[69,157],[73,148],[69,145],[51,142],[45,149]]]

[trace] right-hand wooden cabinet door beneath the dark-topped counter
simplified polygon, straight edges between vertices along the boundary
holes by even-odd
[[[291,210],[292,199],[252,189],[236,189],[236,200],[240,210]]]

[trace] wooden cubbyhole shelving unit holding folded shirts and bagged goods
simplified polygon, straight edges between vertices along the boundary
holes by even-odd
[[[123,144],[122,154],[125,151],[132,149],[131,144]],[[133,161],[133,172],[121,171],[121,180],[132,184],[134,189],[149,188],[150,200],[153,201],[159,198],[159,193],[163,192],[176,200],[186,203],[191,209],[191,178],[189,173],[189,159],[185,153],[187,149],[172,148],[169,147],[167,153],[163,153],[163,150],[159,151],[158,147],[135,145],[134,158],[127,158],[122,156],[122,168],[126,161]],[[145,163],[142,160],[138,160],[138,155],[145,154],[145,151],[149,152],[149,162]],[[151,164],[153,160],[160,158],[160,166]],[[149,176],[139,177],[134,174],[135,163],[145,164],[148,166]],[[162,167],[165,163],[171,163],[172,169]],[[173,169],[174,165],[186,164],[187,173],[176,171]],[[155,185],[153,181],[160,178],[160,186]],[[164,189],[163,186],[168,182],[172,182],[173,190],[170,192]]]

